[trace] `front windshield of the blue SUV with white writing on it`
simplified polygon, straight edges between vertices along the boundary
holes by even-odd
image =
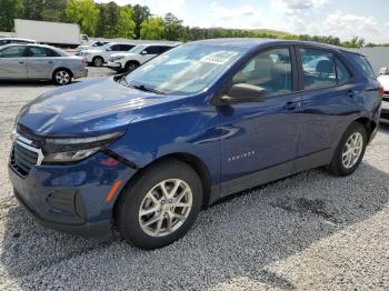
[[[143,86],[162,93],[197,93],[212,84],[240,52],[221,46],[180,46],[132,71],[126,81],[129,86]]]

